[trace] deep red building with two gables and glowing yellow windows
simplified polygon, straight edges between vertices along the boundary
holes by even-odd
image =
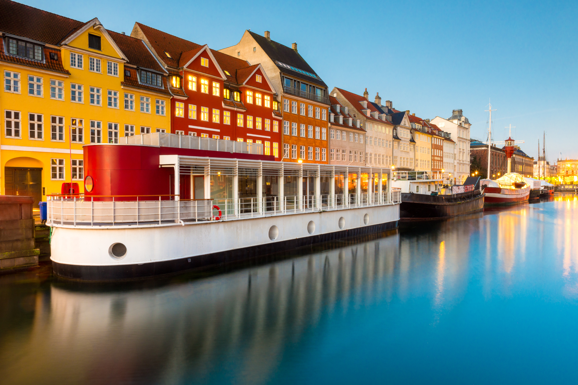
[[[131,35],[147,44],[168,73],[172,133],[262,143],[264,155],[280,160],[283,116],[260,64],[140,23]]]

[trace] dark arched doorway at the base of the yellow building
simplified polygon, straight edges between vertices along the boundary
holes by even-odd
[[[33,208],[42,200],[42,162],[21,156],[6,162],[4,167],[4,193],[34,197]]]

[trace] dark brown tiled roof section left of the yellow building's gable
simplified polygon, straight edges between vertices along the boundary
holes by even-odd
[[[39,42],[58,45],[83,21],[46,12],[9,0],[0,0],[0,31]]]

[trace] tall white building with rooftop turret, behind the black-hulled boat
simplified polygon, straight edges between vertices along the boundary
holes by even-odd
[[[449,119],[435,117],[431,121],[441,130],[449,132],[456,144],[454,170],[455,184],[463,184],[470,170],[470,125],[462,110],[453,110]]]

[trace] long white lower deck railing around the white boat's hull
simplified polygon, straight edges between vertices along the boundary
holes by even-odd
[[[242,197],[229,199],[176,200],[175,195],[130,197],[47,196],[49,226],[150,226],[208,222],[299,212],[347,210],[401,203],[401,189],[391,194],[350,193],[307,196]],[[101,200],[106,198],[107,200]],[[116,198],[116,200],[115,200]],[[124,197],[125,199],[127,197]],[[97,200],[95,200],[97,199]]]

